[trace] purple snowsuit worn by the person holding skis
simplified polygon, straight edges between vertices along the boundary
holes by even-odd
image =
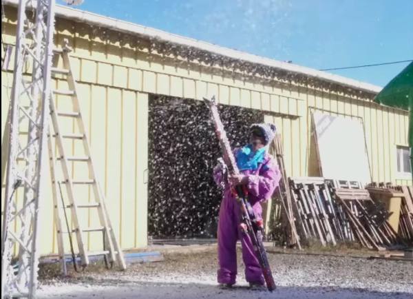
[[[255,171],[244,170],[244,175],[248,176],[248,200],[253,206],[255,216],[262,218],[261,202],[268,200],[273,195],[278,186],[281,173],[278,165],[271,156],[266,156],[264,163]],[[224,185],[224,198],[220,207],[220,218],[218,220],[218,282],[231,284],[235,283],[237,276],[237,240],[242,244],[242,259],[245,265],[246,281],[264,284],[264,277],[260,264],[255,258],[255,252],[251,238],[244,234],[240,227],[240,207],[231,194],[229,186],[223,183],[222,170],[219,166],[214,169],[214,180],[218,185]]]

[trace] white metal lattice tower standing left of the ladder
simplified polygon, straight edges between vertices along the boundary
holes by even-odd
[[[1,242],[2,298],[35,298],[36,293],[53,34],[54,0],[38,0],[36,8],[32,1],[21,0],[10,110],[3,139],[7,152],[2,153],[8,157]],[[16,258],[12,258],[13,254]]]

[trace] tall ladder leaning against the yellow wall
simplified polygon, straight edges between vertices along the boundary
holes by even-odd
[[[78,257],[81,259],[82,267],[89,265],[90,256],[104,256],[105,261],[109,261],[111,265],[116,261],[121,269],[126,269],[125,259],[120,249],[120,245],[114,234],[114,229],[109,220],[107,208],[105,205],[105,198],[100,189],[98,180],[96,178],[96,171],[92,161],[91,149],[85,131],[85,124],[83,122],[81,107],[79,104],[78,93],[76,90],[76,81],[72,73],[70,64],[71,49],[67,45],[67,40],[64,42],[60,50],[54,50],[54,64],[52,68],[52,75],[61,76],[61,79],[67,81],[69,90],[53,90],[50,101],[50,118],[52,130],[49,131],[48,150],[50,158],[50,174],[52,178],[52,196],[54,203],[54,218],[56,223],[57,245],[59,249],[59,259],[62,264],[63,274],[67,274],[66,255],[64,246],[64,236],[68,235],[70,238],[70,245],[73,243],[72,236],[76,236],[76,243],[78,247]],[[63,61],[63,68],[59,68],[59,60]],[[61,63],[62,64],[62,63]],[[61,95],[63,101],[70,101],[72,103],[71,111],[61,111],[56,109],[56,95]],[[62,101],[62,100],[61,100]],[[67,105],[66,105],[67,106]],[[70,118],[73,121],[74,131],[76,133],[62,132],[59,123],[63,121],[62,118]],[[64,143],[67,140],[72,141],[73,146],[78,143],[78,148],[83,148],[83,154],[80,156],[70,156],[66,153]],[[81,146],[79,146],[81,143]],[[56,152],[54,149],[57,148]],[[73,163],[70,165],[70,163]],[[70,174],[70,168],[74,169],[76,164],[83,164],[81,167],[87,167],[88,178],[78,179],[73,178],[75,174]],[[61,176],[56,175],[57,168],[61,165]],[[87,165],[87,166],[86,166]],[[71,167],[72,166],[72,167]],[[89,186],[92,188],[94,200],[85,202],[85,198],[78,200],[75,196],[76,189],[79,186]],[[63,192],[67,195],[67,200],[63,200]],[[81,209],[88,209],[90,213],[97,212],[99,222],[98,227],[83,227],[81,224],[81,217],[79,216]],[[94,210],[94,211],[92,211]],[[67,222],[67,214],[72,220],[72,227],[65,225]],[[68,231],[69,228],[69,231]],[[85,246],[85,238],[89,233],[102,233],[103,249],[101,251],[88,251]],[[75,261],[74,261],[75,262]]]

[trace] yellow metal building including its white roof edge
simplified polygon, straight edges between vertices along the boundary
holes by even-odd
[[[17,1],[5,3],[3,42],[13,45]],[[407,147],[407,111],[373,103],[380,87],[57,6],[56,45],[63,39],[73,48],[96,170],[124,249],[147,245],[149,94],[195,100],[215,95],[222,104],[262,110],[265,121],[282,132],[288,176],[318,175],[311,112],[361,118],[373,181],[412,184],[411,176],[397,171],[397,148]],[[8,70],[1,71],[1,83],[3,134],[12,59]],[[64,89],[61,81],[55,84]],[[57,101],[65,105],[63,99]],[[45,177],[50,181],[48,169]],[[83,196],[89,197],[87,189]],[[57,247],[50,190],[44,200],[41,251],[51,254]],[[84,220],[93,222],[87,214]],[[96,245],[88,240],[88,246]]]

